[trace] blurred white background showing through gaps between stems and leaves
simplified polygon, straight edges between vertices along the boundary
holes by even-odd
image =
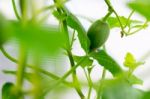
[[[127,2],[130,2],[130,0],[110,0],[110,1],[120,16],[128,17],[131,10],[127,7],[126,4]],[[36,5],[38,5],[37,6],[38,8],[42,7],[43,5],[49,5],[53,3],[52,0],[35,0],[35,2],[37,3]],[[82,18],[81,16],[96,20],[102,18],[107,13],[107,6],[103,0],[69,0],[69,2],[66,3],[66,6],[70,9],[72,13],[78,16],[78,18],[80,19],[86,30],[89,28],[91,23],[86,19]],[[16,19],[11,4],[11,0],[0,0],[0,13],[2,13],[8,19],[11,20]],[[145,21],[145,18],[143,18],[137,13],[134,13],[132,19],[138,19],[143,22]],[[47,19],[47,22],[50,24],[58,24],[56,19],[51,15]],[[135,35],[124,38],[120,37],[120,29],[114,28],[111,30],[110,37],[106,42],[106,48],[108,50],[108,53],[110,53],[110,55],[114,57],[119,62],[120,65],[123,65],[124,57],[127,52],[131,52],[139,60],[144,58],[145,64],[138,67],[134,72],[136,76],[138,76],[144,81],[143,85],[138,85],[136,87],[144,90],[150,90],[150,76],[149,76],[150,58],[145,56],[145,55],[150,56],[149,42],[150,42],[150,27],[141,30]],[[18,48],[15,42],[6,44],[5,48],[12,56],[17,57]],[[83,51],[81,50],[78,41],[74,43],[73,53],[76,55],[83,54]],[[54,67],[46,66],[49,64],[53,65]],[[65,65],[66,68],[56,66],[60,64]],[[97,62],[95,62],[94,64],[96,66],[91,76],[93,81],[97,81],[100,78],[102,70],[101,68],[99,68],[99,66],[97,66]],[[2,72],[2,70],[5,69],[15,69],[16,67],[15,65],[16,64],[10,62],[0,52],[0,89],[5,82],[15,81],[14,76],[5,75]],[[52,72],[54,73],[57,72],[58,75],[62,75],[69,68],[69,61],[67,60],[67,58],[64,59],[63,57],[59,57],[58,60],[47,59],[44,65],[45,68],[49,68]],[[59,72],[60,70],[61,72]],[[86,81],[86,78],[83,74],[83,70],[81,68],[78,68],[78,76],[79,79]],[[108,78],[111,77],[111,74],[107,73],[107,77]],[[86,93],[87,92],[86,88],[84,88],[83,91],[84,93]],[[50,95],[52,94],[55,93],[51,93]],[[94,97],[94,92],[92,96]],[[74,90],[66,90],[66,92],[61,95],[61,99],[70,99],[70,98],[79,99],[78,95]]]

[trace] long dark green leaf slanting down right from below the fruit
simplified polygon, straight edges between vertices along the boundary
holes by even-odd
[[[96,59],[101,66],[110,71],[113,76],[123,73],[120,65],[104,50],[93,52],[91,56]]]

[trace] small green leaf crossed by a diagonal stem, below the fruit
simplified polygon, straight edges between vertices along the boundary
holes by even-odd
[[[78,63],[82,59],[84,59],[85,57],[87,57],[87,56],[74,56],[73,58]],[[93,60],[88,57],[88,58],[85,58],[85,60],[80,64],[80,66],[82,66],[84,68],[84,67],[87,67],[87,66],[88,67],[92,66],[92,64],[93,64]]]

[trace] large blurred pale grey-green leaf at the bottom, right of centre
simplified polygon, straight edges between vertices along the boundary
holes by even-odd
[[[141,99],[142,95],[142,91],[132,88],[124,79],[103,81],[102,99]]]

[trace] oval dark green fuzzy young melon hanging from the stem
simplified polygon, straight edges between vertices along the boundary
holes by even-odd
[[[101,47],[109,36],[109,25],[101,20],[95,21],[88,30],[88,38],[90,40],[90,50]]]

